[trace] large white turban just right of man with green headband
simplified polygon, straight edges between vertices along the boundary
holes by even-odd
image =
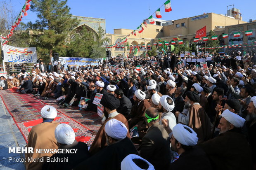
[[[189,129],[191,133],[186,128]],[[173,127],[173,137],[186,146],[194,146],[198,141],[197,133],[187,125],[180,123]]]

